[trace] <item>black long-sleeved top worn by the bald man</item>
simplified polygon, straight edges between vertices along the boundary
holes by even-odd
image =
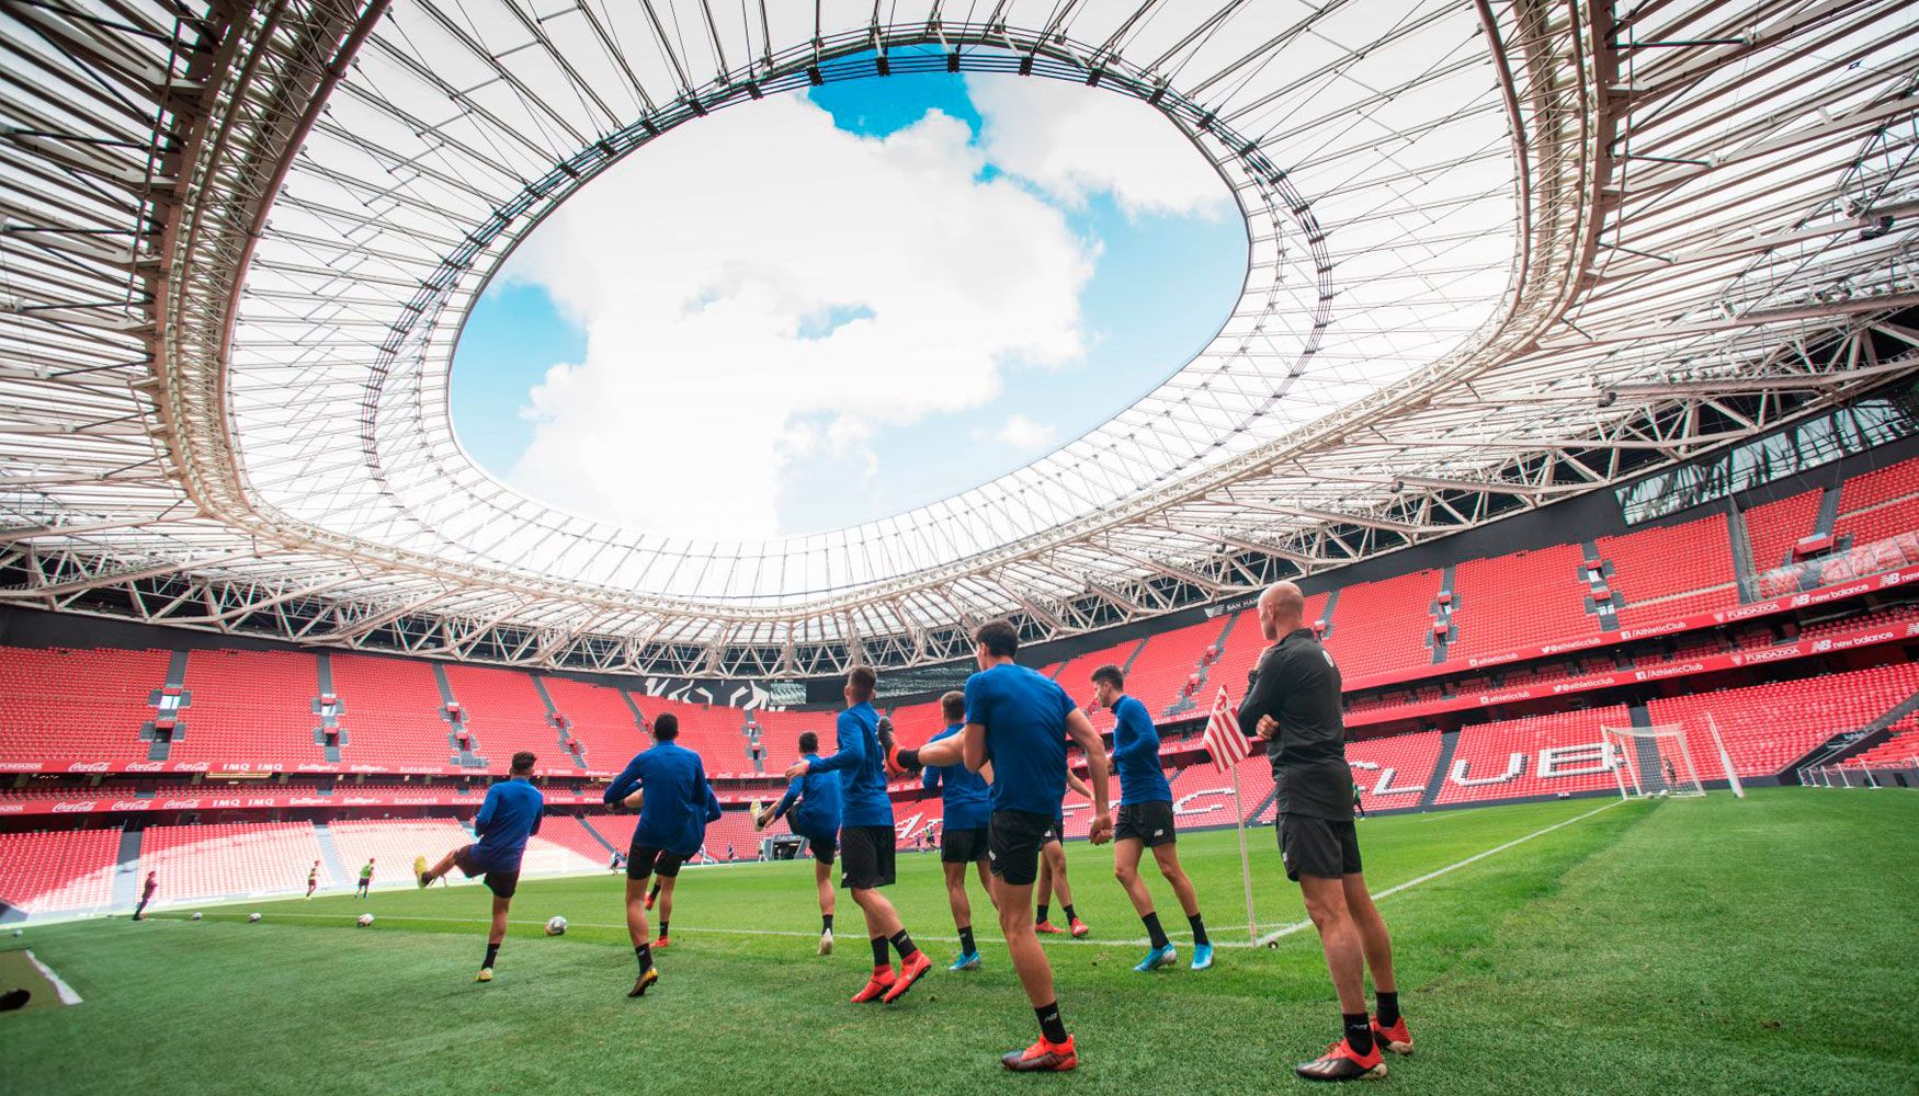
[[[1267,743],[1278,814],[1349,822],[1353,770],[1345,764],[1339,666],[1311,628],[1286,633],[1259,658],[1259,672],[1240,704],[1245,737],[1253,737],[1259,716],[1280,724]]]

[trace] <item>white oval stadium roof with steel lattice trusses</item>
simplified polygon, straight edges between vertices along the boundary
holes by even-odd
[[[1919,369],[1898,0],[0,19],[15,605],[649,674],[936,662],[986,616],[1044,639],[1167,612]],[[459,447],[461,324],[568,194],[716,109],[925,69],[1069,79],[1178,127],[1247,223],[1217,338],[1019,472],[781,541],[566,514]]]

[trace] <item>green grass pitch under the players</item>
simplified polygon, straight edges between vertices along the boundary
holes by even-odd
[[[1587,814],[1602,800],[1361,823],[1374,891]],[[1756,791],[1612,806],[1382,902],[1418,1054],[1405,1092],[1919,1092],[1911,1008],[1919,795]],[[1272,831],[1249,833],[1267,927],[1301,919]],[[1247,939],[1230,831],[1182,858],[1215,941]],[[1080,1042],[1071,1077],[1002,1075],[1034,1036],[990,910],[986,969],[935,969],[896,1006],[852,1006],[869,962],[841,896],[816,958],[810,864],[687,871],[662,981],[628,1000],[633,954],[612,875],[528,881],[491,985],[472,981],[486,893],[259,902],[29,927],[84,998],[0,1015],[6,1092],[856,1094],[1305,1090],[1291,1065],[1338,1035],[1311,929],[1220,948],[1219,967],[1138,975],[1142,937],[1105,848],[1069,846],[1088,941],[1048,952]],[[935,856],[890,889],[944,967]],[[1157,879],[1169,925],[1182,917]],[[261,910],[263,923],[240,917]],[[372,929],[353,917],[370,910]],[[574,929],[541,937],[564,914]],[[796,933],[796,935],[783,935]]]

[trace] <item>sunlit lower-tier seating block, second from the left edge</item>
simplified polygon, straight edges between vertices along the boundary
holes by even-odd
[[[140,879],[159,871],[155,904],[305,893],[315,860],[320,860],[320,843],[305,822],[150,825],[140,835]],[[320,887],[342,883],[322,862]]]

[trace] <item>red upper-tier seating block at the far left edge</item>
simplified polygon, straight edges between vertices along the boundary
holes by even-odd
[[[0,647],[0,760],[146,760],[165,651]]]

